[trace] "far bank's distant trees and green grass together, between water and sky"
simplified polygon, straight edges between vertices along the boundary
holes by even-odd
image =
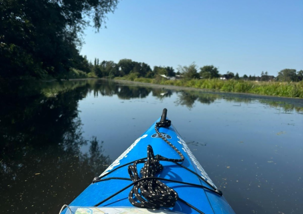
[[[303,70],[283,69],[278,76],[261,72],[261,77],[227,72],[220,74],[217,67],[205,65],[198,67],[195,63],[177,68],[155,66],[153,69],[146,63],[122,59],[118,63],[102,61],[96,58],[90,64],[90,72],[71,69],[65,79],[72,78],[108,78],[128,80],[149,84],[190,87],[218,92],[249,93],[276,97],[303,98]]]

